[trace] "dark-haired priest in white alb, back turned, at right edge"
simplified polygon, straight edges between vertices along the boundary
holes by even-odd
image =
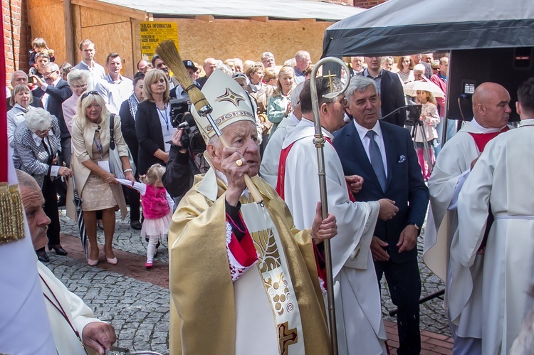
[[[517,129],[486,145],[458,199],[458,259],[483,251],[482,354],[509,354],[534,280],[534,78],[518,89]],[[488,208],[493,223],[488,226]],[[484,245],[485,243],[485,245]],[[452,251],[451,251],[452,253]]]

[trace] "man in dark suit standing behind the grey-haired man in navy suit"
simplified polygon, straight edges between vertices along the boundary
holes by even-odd
[[[382,66],[380,66],[381,62],[382,57],[365,57],[367,68],[365,68],[362,73],[357,74],[372,78],[375,80],[375,83],[377,83],[378,95],[382,102],[379,111],[380,120],[390,112],[406,105],[406,100],[404,100],[404,90],[402,90],[402,83],[399,80],[399,76],[395,73],[383,70]],[[404,127],[405,120],[406,112],[400,111],[387,117],[384,121]]]

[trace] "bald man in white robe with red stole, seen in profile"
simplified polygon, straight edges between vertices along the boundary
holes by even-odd
[[[509,104],[510,94],[503,86],[479,85],[473,94],[473,120],[445,144],[429,179],[430,208],[423,260],[446,281],[445,307],[454,337],[454,354],[481,354],[483,312],[483,255],[477,255],[471,267],[459,263],[457,198],[486,144],[510,129]]]

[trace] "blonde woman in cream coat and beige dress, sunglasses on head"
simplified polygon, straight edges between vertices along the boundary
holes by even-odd
[[[115,145],[118,150],[122,171],[126,179],[135,181],[128,157],[128,147],[122,137],[120,117],[113,119]],[[96,91],[85,92],[78,102],[78,115],[74,117],[72,129],[73,159],[71,161],[75,186],[82,199],[85,230],[90,243],[88,264],[98,264],[98,242],[96,239],[96,212],[102,211],[104,224],[104,255],[108,263],[116,264],[112,248],[115,232],[115,208],[120,208],[122,219],[127,208],[122,188],[115,176],[108,171],[110,160],[110,112],[105,109],[103,97]],[[69,191],[71,192],[71,191]],[[75,217],[75,208],[67,198],[67,213]]]

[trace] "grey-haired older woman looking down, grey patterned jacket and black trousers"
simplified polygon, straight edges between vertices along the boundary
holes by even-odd
[[[24,122],[16,128],[14,136],[13,162],[16,169],[36,179],[43,192],[46,216],[51,219],[46,235],[48,236],[48,250],[55,250],[58,255],[67,255],[59,240],[58,196],[53,179],[67,178],[72,171],[66,166],[57,166],[60,145],[58,119],[42,108],[28,111]],[[45,248],[36,250],[38,259],[47,262]]]

